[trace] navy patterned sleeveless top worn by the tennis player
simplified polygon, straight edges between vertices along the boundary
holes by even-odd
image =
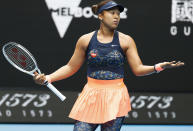
[[[87,76],[100,80],[113,80],[124,77],[125,54],[119,43],[118,32],[114,31],[110,43],[97,40],[98,30],[93,34],[86,52]]]

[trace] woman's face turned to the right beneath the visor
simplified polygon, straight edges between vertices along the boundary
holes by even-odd
[[[116,29],[120,21],[120,11],[118,8],[104,10],[99,14],[101,22],[110,29]]]

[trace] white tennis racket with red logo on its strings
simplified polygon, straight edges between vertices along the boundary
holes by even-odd
[[[3,46],[2,51],[7,61],[18,70],[31,76],[34,76],[35,72],[41,74],[41,71],[38,68],[37,62],[33,55],[22,45],[15,42],[8,42]],[[45,81],[44,85],[46,85],[62,101],[66,99],[66,97],[60,93],[51,83]]]

